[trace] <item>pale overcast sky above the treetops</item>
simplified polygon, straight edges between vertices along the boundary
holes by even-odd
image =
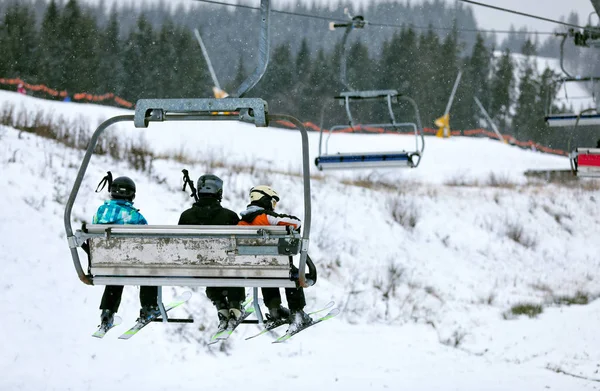
[[[99,3],[100,0],[84,0],[88,3]],[[116,0],[105,0],[105,4],[110,6]],[[118,1],[117,3],[134,3],[134,4],[153,4],[158,3],[160,0],[125,0]],[[163,0],[164,1],[164,0]],[[238,0],[222,0],[223,2],[237,3]],[[284,4],[291,4],[295,2],[305,2],[311,4],[313,2],[326,3],[326,4],[337,4],[338,0],[272,0],[271,5],[274,9],[281,8]],[[362,4],[366,0],[340,0],[344,3]],[[400,0],[402,2],[410,1],[411,4],[418,4],[423,0]],[[450,4],[455,3],[457,0],[444,0]],[[247,3],[246,1],[243,1]],[[495,5],[498,7],[509,8],[515,11],[525,12],[528,14],[534,14],[543,16],[549,19],[560,19],[571,12],[575,11],[579,14],[580,22],[585,24],[588,15],[594,10],[590,0],[478,0],[478,2]],[[194,0],[171,0],[168,3],[176,4],[194,4]],[[250,2],[260,4],[259,0],[252,0]],[[466,4],[466,3],[464,3]],[[554,23],[543,22],[532,18],[500,12],[489,8],[469,5],[472,7],[477,23],[481,29],[495,29],[495,30],[508,30],[511,24],[515,27],[520,28],[527,26],[530,31],[553,31],[556,25]],[[596,22],[597,19],[594,19]]]

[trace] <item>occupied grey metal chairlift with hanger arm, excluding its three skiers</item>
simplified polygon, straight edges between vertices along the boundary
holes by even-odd
[[[261,11],[263,16],[268,16],[269,0],[261,0]],[[268,21],[266,16],[263,21]],[[112,117],[93,133],[64,213],[67,241],[82,282],[89,285],[254,287],[259,321],[262,321],[262,315],[258,308],[257,287],[292,288],[314,282],[316,270],[308,258],[311,197],[306,129],[294,117],[269,115],[267,103],[262,99],[241,97],[256,85],[266,69],[269,37],[264,24],[257,70],[238,88],[235,94],[238,98],[140,99],[134,115]],[[302,234],[277,226],[92,224],[73,230],[73,205],[98,139],[106,128],[125,121],[133,122],[137,128],[147,128],[151,122],[207,120],[238,120],[257,127],[268,126],[271,120],[285,120],[296,125],[301,134],[303,157]],[[87,272],[79,258],[79,247],[88,252]],[[290,257],[295,255],[299,255],[297,272],[290,262]],[[306,274],[307,263],[312,269],[309,274]],[[163,321],[167,321],[166,316]]]

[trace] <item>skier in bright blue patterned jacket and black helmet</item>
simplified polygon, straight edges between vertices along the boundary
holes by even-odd
[[[110,200],[102,204],[92,222],[94,224],[141,224],[147,225],[148,222],[142,216],[138,209],[133,207],[135,198],[135,183],[128,177],[122,176],[112,180],[112,174],[108,173],[103,179],[108,182],[110,191]],[[101,182],[101,184],[103,183]],[[114,321],[114,315],[121,304],[123,286],[107,285],[100,302],[100,327],[110,328]],[[140,318],[156,316],[160,313],[157,305],[158,287],[142,286],[140,288]]]

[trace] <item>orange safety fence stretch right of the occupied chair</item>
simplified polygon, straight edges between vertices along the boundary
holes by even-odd
[[[289,121],[276,121],[277,124],[285,126],[287,128],[294,128],[294,124],[289,122]],[[306,127],[307,129],[319,132],[321,130],[320,127],[318,127],[317,125],[315,125],[312,122],[304,122],[304,127]],[[370,127],[370,126],[364,126],[364,125],[356,125],[354,126],[354,128],[348,126],[347,128],[343,128],[343,129],[337,129],[334,130],[333,133],[389,133],[389,134],[414,134],[414,132],[411,131],[398,131],[398,130],[389,130],[389,129],[382,129],[382,128],[375,128],[375,127]],[[436,129],[432,129],[432,128],[424,128],[423,129],[423,133],[424,134],[436,134],[437,130]],[[491,139],[495,139],[498,140],[498,136],[496,135],[496,133],[494,132],[490,132],[489,130],[486,129],[469,129],[469,130],[453,130],[451,132],[452,136],[458,136],[458,137],[477,137],[477,136],[483,136],[483,137],[487,137],[487,138],[491,138]],[[540,151],[540,152],[544,152],[544,153],[550,153],[553,155],[561,155],[561,156],[569,156],[569,154],[561,149],[553,149],[553,148],[549,148],[546,146],[543,146],[539,143],[536,143],[532,140],[529,141],[519,141],[516,138],[514,138],[511,135],[508,134],[503,134],[501,135],[502,138],[509,144],[512,145],[517,145],[521,148],[529,148],[529,149],[535,149],[536,151]]]

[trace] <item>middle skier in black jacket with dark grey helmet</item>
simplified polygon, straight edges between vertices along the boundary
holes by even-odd
[[[181,214],[179,225],[237,225],[237,213],[221,206],[223,181],[216,175],[198,178],[198,201]],[[206,296],[218,310],[219,331],[225,330],[229,321],[235,322],[242,314],[246,290],[241,287],[207,287]]]

